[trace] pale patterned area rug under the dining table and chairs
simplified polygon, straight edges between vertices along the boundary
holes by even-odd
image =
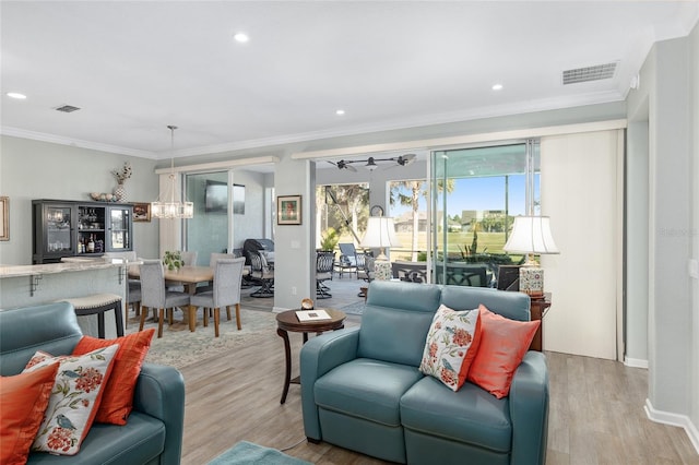
[[[181,369],[189,365],[213,357],[217,354],[228,353],[228,349],[248,345],[251,341],[276,334],[276,314],[271,311],[240,309],[242,329],[238,331],[235,319],[235,310],[232,309],[232,320],[226,320],[226,312],[221,312],[220,336],[214,337],[213,318],[209,319],[209,326],[203,326],[203,310],[198,313],[197,331],[190,332],[189,324],[183,321],[183,313],[175,311],[174,324],[163,325],[163,337],[153,336],[153,343],[145,361],[159,365],[169,365]],[[129,325],[126,333],[139,331],[139,321],[130,312]],[[150,315],[149,315],[150,317]],[[146,321],[144,327],[155,327],[157,322]]]

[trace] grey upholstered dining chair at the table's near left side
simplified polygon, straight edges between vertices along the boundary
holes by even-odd
[[[149,309],[157,309],[157,336],[163,337],[163,320],[167,310],[168,322],[173,323],[176,307],[188,309],[189,294],[165,288],[165,272],[159,260],[144,260],[141,265],[141,325],[143,331]]]

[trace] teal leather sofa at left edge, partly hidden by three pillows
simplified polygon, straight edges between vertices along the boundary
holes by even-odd
[[[68,302],[0,310],[0,374],[22,372],[36,350],[71,354],[82,335]],[[183,420],[185,380],[180,372],[143,363],[127,425],[93,424],[78,454],[33,452],[27,463],[177,465]]]

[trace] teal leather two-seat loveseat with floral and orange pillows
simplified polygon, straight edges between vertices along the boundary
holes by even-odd
[[[455,310],[483,303],[509,319],[530,320],[524,294],[374,281],[360,326],[313,337],[301,349],[306,437],[398,463],[544,464],[544,354],[526,353],[507,397],[470,382],[453,392],[418,370],[440,303]]]

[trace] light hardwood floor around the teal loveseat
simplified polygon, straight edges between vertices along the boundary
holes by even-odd
[[[347,283],[355,293],[356,281]],[[340,287],[336,282],[331,286]],[[257,300],[261,306],[265,299]],[[358,322],[358,317],[350,317],[347,325]],[[291,333],[289,338],[295,375],[301,336]],[[647,370],[609,360],[546,355],[550,377],[547,465],[699,465],[699,455],[682,428],[645,417]],[[292,384],[286,404],[280,405],[284,349],[276,333],[181,371],[187,389],[183,465],[206,464],[242,440],[291,448],[287,454],[315,464],[384,463],[306,441],[299,386]]]

